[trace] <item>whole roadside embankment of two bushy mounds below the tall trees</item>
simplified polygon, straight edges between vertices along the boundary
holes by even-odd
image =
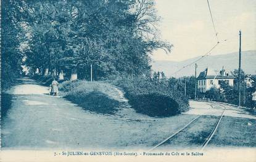
[[[52,80],[51,76],[35,79],[41,80],[44,85],[49,85]],[[60,83],[59,90],[60,95],[69,101],[101,114],[115,114],[120,107],[131,107],[150,117],[170,117],[189,110],[188,98],[166,80],[154,82],[143,77],[93,83],[67,80]]]

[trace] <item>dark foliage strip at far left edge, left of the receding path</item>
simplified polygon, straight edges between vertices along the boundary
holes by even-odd
[[[22,73],[23,36],[19,7],[15,1],[1,2],[1,90],[10,86]]]

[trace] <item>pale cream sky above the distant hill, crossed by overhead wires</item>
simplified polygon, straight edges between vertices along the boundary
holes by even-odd
[[[211,55],[256,50],[256,1],[209,0],[220,44]],[[155,0],[160,39],[173,44],[168,55],[156,50],[153,60],[183,61],[207,53],[217,44],[207,0]],[[226,40],[226,41],[225,41]]]

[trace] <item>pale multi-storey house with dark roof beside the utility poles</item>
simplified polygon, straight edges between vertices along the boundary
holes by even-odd
[[[220,71],[213,71],[212,69],[205,69],[200,72],[197,77],[197,88],[201,93],[210,90],[212,87],[220,88],[221,81],[225,81],[230,86],[234,85],[234,76],[230,71],[221,69]]]

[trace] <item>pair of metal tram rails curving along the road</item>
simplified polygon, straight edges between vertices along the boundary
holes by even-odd
[[[212,128],[212,131],[210,131],[210,133],[208,134],[208,136],[205,138],[204,142],[200,143],[198,146],[201,150],[204,150],[205,147],[207,147],[207,145],[209,144],[210,140],[212,139],[213,135],[215,134],[215,132],[217,131],[217,128],[218,128],[218,125],[220,124],[220,121],[223,117],[223,114],[226,110],[226,107],[221,105],[221,104],[216,104],[216,103],[210,103],[209,106],[212,107],[212,109],[214,109],[215,106],[220,106],[220,107],[223,107],[223,110],[220,114],[219,117],[217,117],[217,122],[215,120],[215,123],[213,124],[213,128]],[[170,142],[175,139],[175,138],[178,138],[179,136],[181,136],[183,133],[186,133],[186,129],[189,129],[191,128],[191,126],[193,124],[195,124],[196,122],[198,122],[198,120],[200,119],[200,117],[202,117],[202,115],[197,115],[196,118],[194,118],[193,120],[191,120],[191,122],[189,122],[187,125],[185,125],[183,128],[179,129],[178,131],[176,131],[175,133],[171,134],[171,136],[168,136],[166,139],[164,139],[162,142],[160,142],[159,144],[155,145],[154,147],[152,147],[152,149],[149,150],[149,152],[151,152],[152,150],[155,150],[155,149],[159,149],[160,147],[162,147],[163,145],[168,145],[170,146]],[[198,125],[198,123],[196,123]],[[201,124],[199,122],[199,124]],[[204,124],[204,123],[203,123]],[[196,126],[197,126],[196,125]],[[173,140],[174,141],[174,140]]]

